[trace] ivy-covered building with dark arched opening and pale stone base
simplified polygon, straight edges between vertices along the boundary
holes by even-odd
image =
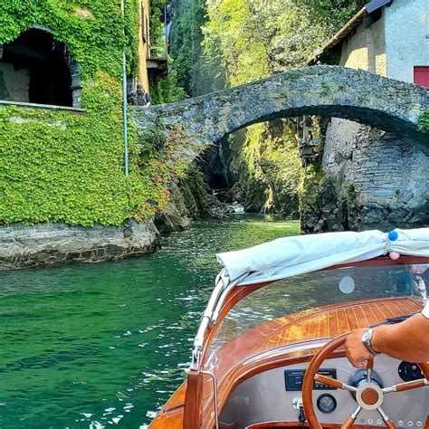
[[[141,162],[124,126],[123,66],[129,103],[145,104],[167,72],[162,37],[150,40],[148,0],[83,3],[2,0],[0,270],[157,245],[165,190],[148,176],[164,167]]]

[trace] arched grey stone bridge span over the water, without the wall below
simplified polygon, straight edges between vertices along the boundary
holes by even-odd
[[[138,129],[184,129],[195,142],[210,144],[257,122],[318,115],[350,119],[406,137],[418,132],[429,110],[429,91],[367,71],[313,66],[194,99],[134,108]]]

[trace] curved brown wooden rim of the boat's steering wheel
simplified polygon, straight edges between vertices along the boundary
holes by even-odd
[[[304,405],[304,412],[307,418],[308,423],[312,429],[323,429],[323,426],[319,423],[318,417],[314,411],[313,405],[313,382],[314,377],[319,371],[319,367],[323,362],[329,358],[329,355],[332,354],[337,348],[344,345],[346,339],[348,338],[347,334],[340,335],[337,338],[332,339],[329,343],[325,344],[319,351],[313,356],[310,361],[310,365],[305,372],[305,377],[302,383],[302,402]],[[418,364],[424,373],[424,377],[429,379],[429,363]]]

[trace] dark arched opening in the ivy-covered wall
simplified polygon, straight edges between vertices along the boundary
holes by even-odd
[[[1,54],[3,51],[3,54]],[[64,43],[32,28],[0,51],[0,100],[72,106]]]

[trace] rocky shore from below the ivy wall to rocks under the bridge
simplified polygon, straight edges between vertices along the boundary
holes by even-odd
[[[187,186],[191,182],[187,181]],[[157,250],[161,234],[184,231],[192,219],[222,218],[233,212],[204,186],[191,193],[186,186],[172,184],[170,195],[166,210],[154,219],[129,220],[119,227],[59,223],[0,226],[0,271],[142,256]]]

